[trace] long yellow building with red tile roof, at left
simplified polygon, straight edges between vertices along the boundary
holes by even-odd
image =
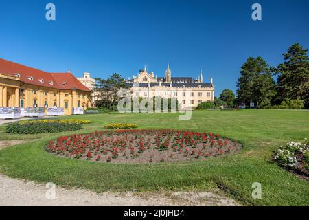
[[[50,73],[0,58],[0,107],[91,107],[90,90],[71,72]]]

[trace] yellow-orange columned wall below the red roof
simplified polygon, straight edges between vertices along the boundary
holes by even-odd
[[[70,115],[72,107],[91,107],[89,92],[60,90],[23,83],[19,78],[0,74],[0,107],[63,107]]]

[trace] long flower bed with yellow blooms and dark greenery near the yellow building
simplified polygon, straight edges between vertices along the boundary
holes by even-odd
[[[14,122],[6,126],[7,133],[56,133],[62,131],[76,131],[82,129],[82,124],[90,123],[89,120],[78,119],[43,119],[43,120],[24,120]]]

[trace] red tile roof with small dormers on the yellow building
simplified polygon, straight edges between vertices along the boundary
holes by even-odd
[[[67,73],[49,73],[25,65],[20,65],[0,58],[0,74],[16,76],[19,74],[24,83],[52,87],[54,89],[78,89],[90,91],[73,74]]]

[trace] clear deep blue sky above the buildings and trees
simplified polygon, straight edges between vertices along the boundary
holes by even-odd
[[[47,3],[56,21],[45,19]],[[262,21],[251,5],[262,5]],[[0,57],[48,72],[71,70],[124,78],[148,70],[164,76],[214,78],[216,96],[236,91],[241,65],[270,65],[299,42],[309,47],[309,1],[1,1]]]

